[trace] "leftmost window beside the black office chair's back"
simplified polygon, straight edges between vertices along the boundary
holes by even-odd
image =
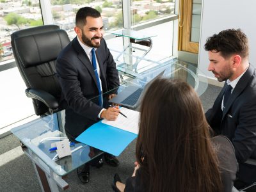
[[[43,24],[39,0],[0,1],[0,129],[34,115],[25,83],[13,65],[11,34]]]

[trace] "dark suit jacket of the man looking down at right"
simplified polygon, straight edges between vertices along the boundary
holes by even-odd
[[[209,111],[208,123],[218,134],[227,136],[233,143],[239,162],[239,179],[248,182],[256,173],[244,170],[244,161],[256,159],[256,72],[252,65],[239,79],[227,103],[221,110],[221,102],[227,84],[223,87]],[[249,171],[249,172],[248,172]],[[252,173],[252,175],[250,174]]]

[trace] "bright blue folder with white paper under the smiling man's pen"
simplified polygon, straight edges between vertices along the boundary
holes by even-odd
[[[127,118],[118,115],[116,121],[102,120],[82,132],[76,140],[119,156],[138,136],[139,112],[120,108]],[[103,122],[104,121],[104,122]]]

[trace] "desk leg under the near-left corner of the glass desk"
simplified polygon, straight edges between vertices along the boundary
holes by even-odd
[[[35,164],[34,162],[32,163],[35,168],[36,175],[42,191],[44,192],[59,191],[56,182],[54,182],[54,180],[48,177],[48,175],[45,174],[45,172],[37,164]]]

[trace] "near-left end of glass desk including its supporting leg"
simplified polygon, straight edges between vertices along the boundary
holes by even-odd
[[[67,189],[68,184],[63,176],[102,154],[99,150],[92,153],[88,145],[76,143],[70,147],[74,151],[71,156],[52,160],[56,151],[49,151],[51,143],[67,138],[60,116],[63,112],[38,118],[11,130],[19,138],[24,153],[33,162],[42,191],[58,191],[58,186]]]

